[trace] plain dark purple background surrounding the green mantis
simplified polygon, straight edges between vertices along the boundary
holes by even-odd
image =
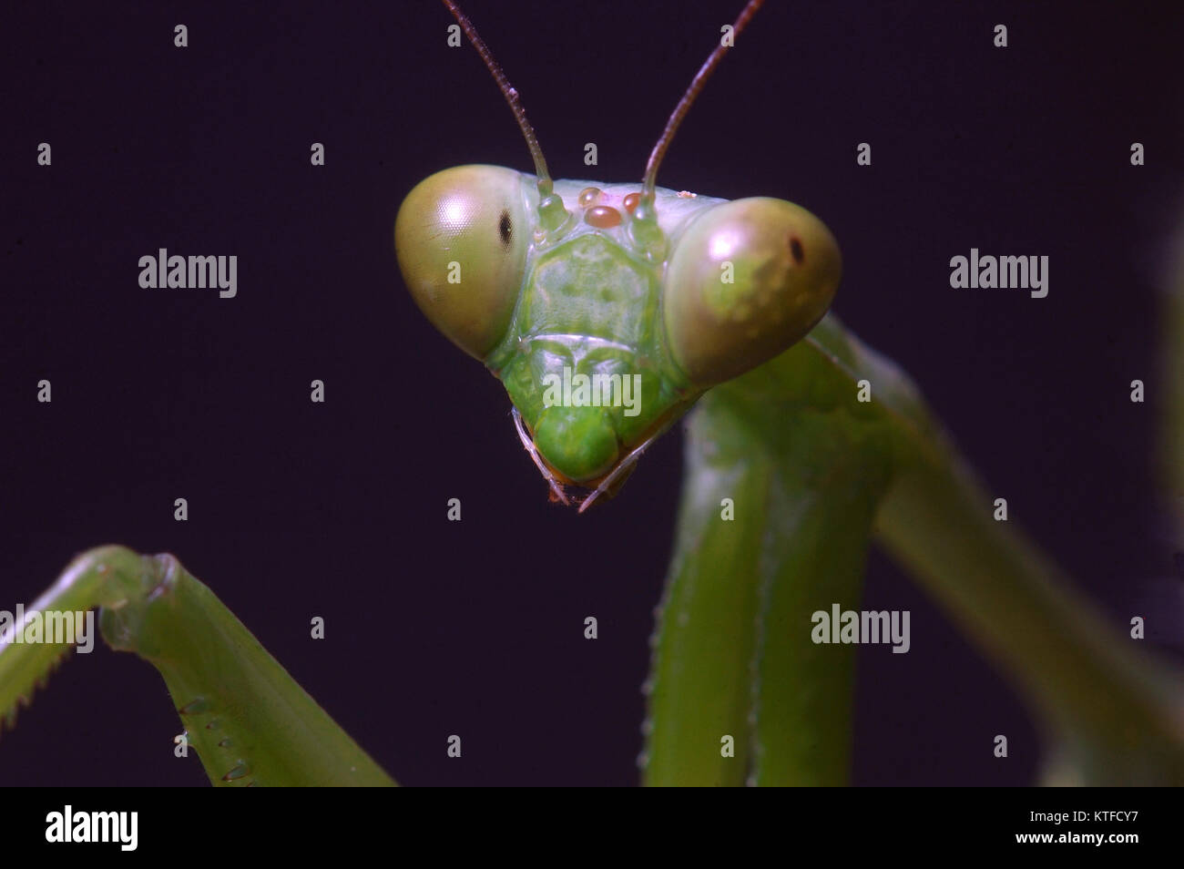
[[[530,167],[509,111],[472,49],[445,46],[436,4],[281,6],[6,15],[0,609],[88,547],[168,551],[400,781],[632,784],[681,436],[605,508],[547,503],[502,387],[414,308],[391,243],[430,173]],[[555,176],[617,181],[641,176],[740,2],[465,6]],[[1184,15],[1164,9],[771,2],[658,179],[822,217],[845,258],[839,316],[1117,623],[1153,596],[1162,649],[1180,582],[1153,547],[1152,288],[1184,214]],[[161,246],[238,255],[238,297],[141,289]],[[1049,296],[952,290],[950,257],[972,246],[1049,256]],[[855,780],[1032,781],[1038,736],[1003,678],[879,554],[866,600],[912,610],[913,637],[908,655],[860,651]],[[179,732],[155,671],[99,648],[0,739],[0,784],[200,784]]]

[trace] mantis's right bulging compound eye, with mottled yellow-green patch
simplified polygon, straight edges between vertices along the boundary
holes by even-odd
[[[675,362],[706,387],[768,361],[822,320],[842,271],[835,237],[800,206],[758,197],[709,208],[667,269]]]

